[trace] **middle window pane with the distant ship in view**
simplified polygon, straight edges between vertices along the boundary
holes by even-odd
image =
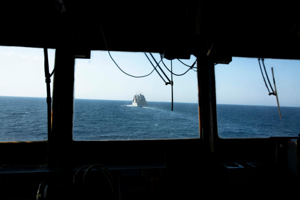
[[[110,52],[119,67],[133,76],[149,74],[154,67],[144,53]],[[156,66],[149,54],[148,57]],[[153,54],[156,61],[159,54]],[[196,60],[182,60],[192,65]],[[164,59],[171,70],[171,61]],[[171,85],[165,85],[156,71],[143,78],[123,73],[107,51],[92,51],[91,59],[75,62],[74,140],[138,140],[199,138],[197,73],[173,60],[174,111]],[[171,73],[160,62],[171,79]],[[196,65],[195,65],[196,66]],[[161,76],[169,82],[157,67]],[[195,68],[196,70],[196,68]],[[146,98],[134,106],[134,98]],[[140,100],[142,100],[140,99]],[[148,105],[146,104],[148,103]],[[141,102],[139,102],[141,103]]]

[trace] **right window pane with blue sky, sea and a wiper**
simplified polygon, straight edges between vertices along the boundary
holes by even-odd
[[[262,72],[270,92],[262,61]],[[300,61],[264,59],[276,96],[268,95],[257,58],[232,58],[215,66],[218,134],[222,138],[297,137],[300,127]]]

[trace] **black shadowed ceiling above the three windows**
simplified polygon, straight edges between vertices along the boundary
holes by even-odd
[[[215,1],[1,2],[0,45],[300,59],[298,6]]]

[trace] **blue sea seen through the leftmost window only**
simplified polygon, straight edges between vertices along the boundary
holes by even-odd
[[[46,98],[0,96],[0,141],[47,140]]]

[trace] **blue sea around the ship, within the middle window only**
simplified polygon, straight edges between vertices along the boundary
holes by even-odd
[[[199,138],[198,104],[75,100],[74,140]],[[80,123],[79,123],[80,122]]]

